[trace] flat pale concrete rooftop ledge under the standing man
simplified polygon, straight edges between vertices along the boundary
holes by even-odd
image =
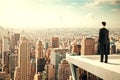
[[[66,59],[104,80],[120,80],[120,55],[109,55],[108,63],[100,62],[100,55],[70,55]]]

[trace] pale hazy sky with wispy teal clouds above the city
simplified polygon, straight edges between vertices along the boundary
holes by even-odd
[[[120,0],[0,0],[3,27],[120,26]]]

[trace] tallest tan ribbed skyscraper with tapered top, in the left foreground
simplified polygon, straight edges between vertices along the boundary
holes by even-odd
[[[21,80],[31,80],[30,48],[29,42],[25,37],[20,39],[18,67],[20,67]]]

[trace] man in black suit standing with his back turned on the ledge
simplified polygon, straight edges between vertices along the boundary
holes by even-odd
[[[99,31],[99,48],[101,59],[100,62],[103,62],[103,58],[105,55],[105,63],[108,62],[108,54],[109,54],[109,30],[105,28],[106,22],[102,22],[103,28]]]

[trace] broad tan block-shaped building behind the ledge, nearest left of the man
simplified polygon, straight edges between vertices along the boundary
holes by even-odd
[[[81,55],[95,54],[95,40],[93,38],[84,38],[81,42]]]

